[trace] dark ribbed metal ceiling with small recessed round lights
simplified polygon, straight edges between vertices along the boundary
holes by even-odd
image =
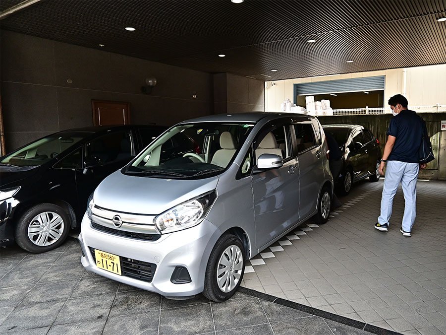
[[[19,2],[2,0],[0,10]],[[44,0],[1,28],[277,80],[446,63],[445,16],[445,0]]]

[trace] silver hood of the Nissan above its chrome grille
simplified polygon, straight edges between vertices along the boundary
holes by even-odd
[[[128,176],[116,171],[94,193],[95,205],[119,212],[157,215],[217,187],[219,177],[181,180]]]

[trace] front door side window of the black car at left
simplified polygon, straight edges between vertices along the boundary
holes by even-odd
[[[85,146],[86,159],[106,164],[132,156],[132,143],[128,132],[115,132],[95,138]]]

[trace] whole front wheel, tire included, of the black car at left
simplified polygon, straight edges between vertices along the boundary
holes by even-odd
[[[44,253],[60,246],[70,228],[70,216],[62,207],[41,203],[20,216],[15,227],[15,242],[31,253]]]

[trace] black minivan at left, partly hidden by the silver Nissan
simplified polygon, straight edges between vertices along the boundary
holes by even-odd
[[[148,125],[71,129],[0,157],[0,246],[15,241],[32,253],[58,247],[80,226],[99,183],[165,130]]]

